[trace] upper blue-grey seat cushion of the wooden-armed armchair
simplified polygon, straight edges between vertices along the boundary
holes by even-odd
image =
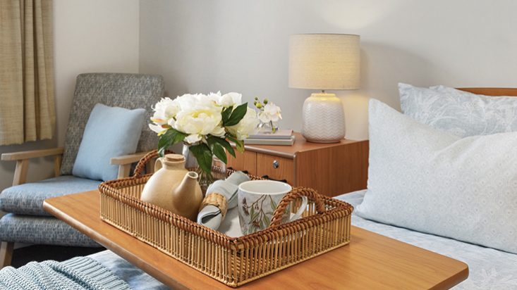
[[[22,215],[50,215],[43,210],[45,199],[97,189],[99,184],[96,180],[66,175],[9,187],[0,194],[0,210]]]

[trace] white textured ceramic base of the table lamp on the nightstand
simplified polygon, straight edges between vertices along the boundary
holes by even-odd
[[[336,94],[315,93],[303,102],[302,135],[315,143],[335,143],[345,137],[345,113]]]

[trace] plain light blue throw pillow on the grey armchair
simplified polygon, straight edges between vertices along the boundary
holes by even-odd
[[[104,106],[97,103],[86,123],[72,174],[95,180],[116,179],[118,165],[110,165],[113,157],[136,151],[145,110]]]

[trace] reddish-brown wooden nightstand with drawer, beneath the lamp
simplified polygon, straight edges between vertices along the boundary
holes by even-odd
[[[229,156],[228,167],[270,179],[285,179],[295,187],[311,187],[326,196],[366,188],[368,141],[310,143],[300,133],[293,146],[246,145]]]

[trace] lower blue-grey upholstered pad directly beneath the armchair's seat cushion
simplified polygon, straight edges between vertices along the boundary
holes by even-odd
[[[0,240],[26,244],[99,247],[92,239],[54,217],[9,213],[0,220]]]

